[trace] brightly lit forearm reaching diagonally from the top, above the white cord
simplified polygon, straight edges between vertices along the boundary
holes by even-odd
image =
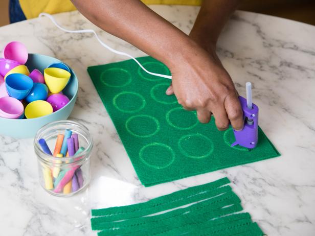
[[[101,29],[122,38],[168,66],[195,42],[139,0],[72,0]]]

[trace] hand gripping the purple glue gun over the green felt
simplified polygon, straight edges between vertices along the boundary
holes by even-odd
[[[218,130],[226,130],[230,123],[241,130],[243,113],[237,91],[215,51],[198,45],[186,55],[170,67],[172,84],[166,94],[175,93],[185,109],[196,110],[201,123],[208,123],[213,115]]]

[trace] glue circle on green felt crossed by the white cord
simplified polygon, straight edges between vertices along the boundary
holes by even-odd
[[[143,67],[149,70],[149,72],[158,73],[162,75],[170,75],[168,68],[162,64],[161,62],[157,61],[147,61],[142,63]],[[153,76],[146,73],[141,67],[138,68],[138,74],[141,78],[149,81],[160,81],[164,78],[159,76]]]

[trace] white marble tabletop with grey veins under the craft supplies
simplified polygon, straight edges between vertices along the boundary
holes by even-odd
[[[198,7],[152,6],[189,33]],[[144,56],[93,26],[78,12],[55,15],[69,29],[92,28],[117,50]],[[145,188],[141,185],[86,67],[125,60],[103,49],[92,34],[68,34],[48,18],[0,28],[0,48],[12,40],[29,52],[68,63],[80,88],[70,119],[92,132],[92,181],[72,198],[50,196],[37,182],[32,139],[0,136],[2,235],[96,235],[90,209],[143,202],[227,176],[268,235],[315,235],[315,27],[256,13],[236,12],[220,36],[218,55],[241,95],[252,81],[260,126],[281,157]],[[1,127],[0,127],[1,128]]]

